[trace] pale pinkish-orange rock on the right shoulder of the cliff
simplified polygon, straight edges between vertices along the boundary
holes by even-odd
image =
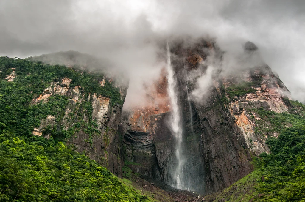
[[[242,131],[247,147],[259,155],[262,152],[269,152],[265,144],[267,136],[277,137],[278,134],[265,134],[263,136],[255,134],[255,121],[260,120],[260,118],[257,117],[253,109],[263,107],[276,113],[288,112],[288,106],[284,103],[283,98],[290,97],[290,92],[268,66],[249,70],[238,77],[236,75],[228,76],[221,80],[227,92],[232,90],[232,85],[239,85],[243,82],[248,82],[254,92],[231,99],[228,109]],[[227,98],[230,99],[228,94]]]

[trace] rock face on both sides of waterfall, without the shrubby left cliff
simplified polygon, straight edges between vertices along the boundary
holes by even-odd
[[[255,51],[254,44],[245,45],[247,54]],[[268,152],[267,135],[277,136],[257,133],[260,129],[255,120],[260,118],[253,109],[287,112],[283,98],[289,96],[289,91],[264,65],[234,75],[213,76],[209,93],[198,102],[188,94],[196,88],[196,78],[190,77],[194,71],[205,73],[206,58],[212,53],[221,58],[222,52],[213,42],[201,40],[193,45],[172,45],[171,53],[183,118],[182,149],[187,157],[183,170],[189,175],[188,189],[201,193],[221,190],[251,172],[251,155]],[[124,158],[132,162],[128,166],[134,172],[171,185],[177,160],[174,138],[167,125],[170,100],[164,74],[163,83],[156,82],[156,86],[151,95],[162,97],[164,102],[134,108],[123,117]]]

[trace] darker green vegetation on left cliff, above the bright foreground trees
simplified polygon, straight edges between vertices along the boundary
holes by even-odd
[[[7,82],[3,78],[10,74],[12,68],[15,68],[16,78],[12,82]],[[61,121],[69,102],[68,97],[52,95],[48,98],[48,102],[34,105],[31,104],[31,101],[44,92],[51,82],[59,81],[64,77],[72,79],[70,87],[79,85],[86,93],[97,93],[97,95],[110,97],[113,105],[122,104],[117,88],[107,81],[105,86],[100,85],[99,81],[103,79],[103,75],[91,75],[64,66],[44,65],[40,62],[8,57],[0,57],[0,71],[0,122],[11,127],[19,135],[31,134],[34,127],[39,127],[40,121],[48,115],[56,116],[57,123]],[[86,132],[92,135],[96,132],[96,124],[94,120],[91,120],[92,106],[89,100],[84,100],[77,109],[79,110],[75,113],[78,113],[80,117],[84,116],[81,112],[86,112],[88,123],[76,123],[69,130],[63,130],[60,125],[54,125],[53,128],[46,128],[45,131],[50,133],[55,141],[70,138],[79,127],[85,128]],[[73,117],[75,116],[70,116],[70,118]]]

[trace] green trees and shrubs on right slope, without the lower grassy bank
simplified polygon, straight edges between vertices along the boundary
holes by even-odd
[[[275,113],[259,108],[253,110],[271,127],[261,127],[261,134],[278,132],[278,138],[270,137],[266,152],[255,157],[257,169],[264,176],[257,181],[256,190],[265,194],[265,201],[305,201],[305,106],[286,99],[293,110],[290,113]],[[290,124],[291,127],[287,127]]]

